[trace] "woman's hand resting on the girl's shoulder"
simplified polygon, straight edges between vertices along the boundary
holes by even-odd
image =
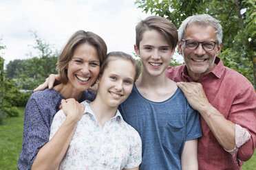
[[[79,104],[79,102],[73,98],[62,99],[60,108],[66,114],[67,118],[76,122],[81,119],[85,110],[85,106],[83,104]]]

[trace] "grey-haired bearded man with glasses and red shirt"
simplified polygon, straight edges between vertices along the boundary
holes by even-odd
[[[200,112],[199,169],[241,169],[256,146],[256,93],[217,56],[222,26],[208,14],[189,16],[178,30],[185,65],[167,68],[189,104]]]

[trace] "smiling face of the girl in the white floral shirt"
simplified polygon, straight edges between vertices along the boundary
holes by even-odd
[[[131,61],[120,58],[110,60],[99,78],[97,97],[107,106],[117,107],[131,93],[135,75],[135,67]]]

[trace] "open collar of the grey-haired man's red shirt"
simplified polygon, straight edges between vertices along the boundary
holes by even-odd
[[[224,73],[224,64],[222,62],[222,59],[219,58],[219,57],[216,57],[215,58],[215,64],[216,64],[216,66],[209,73],[213,73],[213,75],[220,78],[220,77],[222,77],[222,75]],[[181,75],[184,76],[184,77],[187,77],[187,78],[189,77],[189,73],[188,73],[188,70],[186,68],[186,65],[184,65],[184,68],[182,69]]]

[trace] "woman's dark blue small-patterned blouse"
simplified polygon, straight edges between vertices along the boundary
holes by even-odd
[[[95,94],[85,90],[82,99],[94,100]],[[19,156],[18,169],[31,169],[36,154],[49,141],[52,119],[61,105],[63,95],[48,88],[33,93],[25,106],[23,144]]]

